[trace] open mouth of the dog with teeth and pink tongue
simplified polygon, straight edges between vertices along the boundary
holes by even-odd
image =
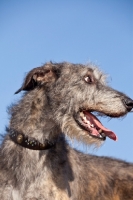
[[[105,128],[99,119],[89,111],[81,111],[76,117],[78,125],[87,131],[87,133],[100,140],[105,140],[109,137],[112,140],[117,140],[117,136],[111,130]]]

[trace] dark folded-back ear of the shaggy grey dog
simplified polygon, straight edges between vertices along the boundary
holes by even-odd
[[[29,91],[34,89],[36,86],[41,86],[49,82],[54,82],[57,79],[56,70],[50,66],[38,67],[31,70],[22,85],[22,87],[15,92],[18,94],[22,90]]]

